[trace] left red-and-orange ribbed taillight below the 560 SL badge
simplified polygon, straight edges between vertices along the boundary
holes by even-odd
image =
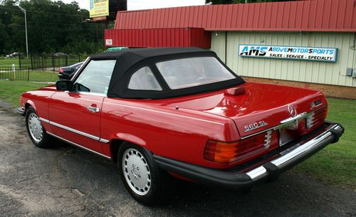
[[[239,161],[268,149],[272,134],[270,130],[236,142],[208,140],[204,149],[204,159],[218,163]]]

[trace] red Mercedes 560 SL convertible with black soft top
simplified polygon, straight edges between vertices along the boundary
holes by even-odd
[[[88,58],[71,80],[24,92],[37,147],[56,137],[112,159],[127,191],[153,205],[172,176],[249,189],[337,142],[322,92],[246,83],[199,48],[142,48]]]

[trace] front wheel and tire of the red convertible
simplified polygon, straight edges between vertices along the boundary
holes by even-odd
[[[51,147],[52,137],[48,135],[46,130],[43,128],[41,120],[39,120],[39,117],[33,107],[28,107],[26,110],[26,129],[28,136],[36,147]]]

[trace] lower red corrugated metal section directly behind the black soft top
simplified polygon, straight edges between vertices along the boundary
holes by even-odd
[[[112,46],[210,48],[211,33],[202,28],[106,29]]]

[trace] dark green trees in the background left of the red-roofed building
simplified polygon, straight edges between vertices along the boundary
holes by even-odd
[[[85,23],[89,11],[78,3],[51,0],[0,0],[0,53],[94,53],[103,49],[103,23]]]

